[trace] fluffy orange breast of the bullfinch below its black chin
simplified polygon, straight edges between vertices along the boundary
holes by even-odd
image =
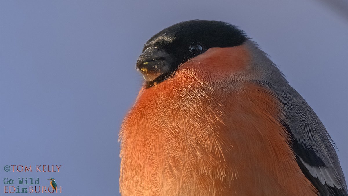
[[[188,63],[143,89],[127,114],[120,131],[121,194],[316,195],[270,92],[245,81],[216,82],[202,77],[202,63]],[[231,69],[242,73],[246,66]]]

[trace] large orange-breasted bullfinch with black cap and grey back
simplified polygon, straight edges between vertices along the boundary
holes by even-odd
[[[151,37],[120,128],[121,195],[347,195],[321,120],[235,25]]]

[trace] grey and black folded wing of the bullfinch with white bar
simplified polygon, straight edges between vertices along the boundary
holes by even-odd
[[[332,140],[318,116],[290,85],[281,88],[258,83],[275,93],[284,106],[283,126],[303,174],[320,195],[348,195],[346,181]]]

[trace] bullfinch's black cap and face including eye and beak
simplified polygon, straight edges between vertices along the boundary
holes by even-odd
[[[154,35],[136,63],[149,88],[175,75],[180,66],[209,48],[242,45],[247,37],[234,25],[192,20],[174,24]]]

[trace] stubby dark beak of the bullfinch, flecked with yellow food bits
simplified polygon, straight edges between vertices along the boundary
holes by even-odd
[[[156,79],[167,78],[173,73],[173,62],[167,52],[156,47],[149,47],[139,56],[136,69],[143,74],[147,82],[156,82]]]

